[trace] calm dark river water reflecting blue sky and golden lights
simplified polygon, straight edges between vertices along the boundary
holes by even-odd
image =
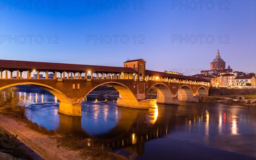
[[[94,138],[136,160],[255,160],[256,108],[212,103],[156,104],[149,109],[116,106],[116,98],[87,97],[82,116],[58,113],[48,93],[23,93],[28,118],[47,129]]]

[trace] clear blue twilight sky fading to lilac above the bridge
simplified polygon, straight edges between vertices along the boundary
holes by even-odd
[[[256,1],[0,0],[0,59],[195,74],[217,49],[233,70],[256,70]]]

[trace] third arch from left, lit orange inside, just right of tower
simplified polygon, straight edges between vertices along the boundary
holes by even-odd
[[[177,104],[177,102],[173,101],[174,96],[172,95],[171,90],[166,84],[163,83],[156,83],[152,85],[151,88],[157,89],[157,103],[163,103],[163,104]],[[148,90],[148,92],[149,92]],[[146,94],[148,94],[148,92]]]

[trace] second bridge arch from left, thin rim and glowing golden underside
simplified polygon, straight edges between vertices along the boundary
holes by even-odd
[[[119,93],[120,95],[122,96],[122,99],[128,99],[128,100],[134,100],[134,101],[137,101],[134,93],[131,91],[131,89],[129,87],[127,87],[126,85],[122,84],[122,83],[119,83],[119,82],[116,82],[116,81],[109,81],[109,82],[105,82],[105,83],[101,83],[95,87],[93,87],[85,96],[84,98],[90,93],[92,92],[94,89],[96,89],[97,87],[99,86],[102,86],[104,84],[111,84],[111,87],[115,88]],[[83,101],[83,99],[81,99],[81,102]],[[81,103],[80,102],[80,103]]]

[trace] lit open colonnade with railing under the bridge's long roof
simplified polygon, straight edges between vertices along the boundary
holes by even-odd
[[[34,73],[34,74],[32,74]],[[86,79],[92,81],[93,79],[133,79],[137,81],[137,73],[93,73],[90,70],[84,73],[81,72],[49,72],[41,70],[27,70],[20,72],[0,70],[0,79]],[[139,77],[139,81],[159,81],[178,84],[195,84],[209,86],[209,82],[195,81],[189,79],[177,79],[172,77],[161,77],[154,75],[147,75],[145,78]]]

